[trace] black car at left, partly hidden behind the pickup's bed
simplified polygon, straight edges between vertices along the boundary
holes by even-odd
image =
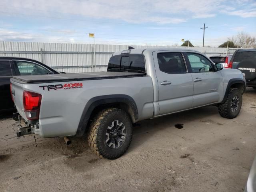
[[[12,76],[59,73],[36,60],[0,56],[0,112],[14,109],[10,94],[10,78]]]

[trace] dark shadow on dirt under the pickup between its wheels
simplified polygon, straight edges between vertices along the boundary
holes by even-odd
[[[136,149],[151,137],[155,136],[155,134],[160,130],[174,131],[177,129],[175,124],[184,124],[184,128],[186,129],[196,129],[196,127],[190,126],[189,123],[192,121],[199,121],[216,114],[218,114],[217,107],[206,106],[162,116],[160,118],[140,121],[138,122],[138,126],[133,128],[133,139],[128,151]],[[216,122],[216,124],[218,124],[218,122]],[[182,131],[182,129],[180,130]]]

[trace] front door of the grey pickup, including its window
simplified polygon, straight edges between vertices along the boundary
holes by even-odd
[[[192,107],[216,103],[223,92],[223,79],[219,71],[215,71],[212,62],[199,53],[187,52],[188,68],[191,70],[194,93]]]

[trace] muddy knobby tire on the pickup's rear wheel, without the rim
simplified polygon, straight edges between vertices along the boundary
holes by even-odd
[[[113,121],[120,121],[126,129],[126,136],[122,145],[118,148],[110,148],[106,142],[106,131]],[[123,110],[108,108],[100,111],[92,120],[88,142],[92,150],[100,157],[116,159],[122,156],[132,140],[132,121],[130,116]]]

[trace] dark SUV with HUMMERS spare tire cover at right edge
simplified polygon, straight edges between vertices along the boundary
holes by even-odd
[[[246,86],[256,89],[256,49],[236,50],[228,68],[242,71],[245,74]]]

